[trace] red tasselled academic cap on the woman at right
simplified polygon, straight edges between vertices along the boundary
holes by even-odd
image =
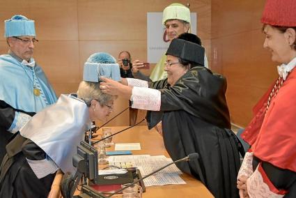
[[[296,1],[266,0],[261,22],[272,26],[296,26]]]

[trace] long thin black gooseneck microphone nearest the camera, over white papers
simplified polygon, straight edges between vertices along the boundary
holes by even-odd
[[[112,195],[115,195],[116,193],[118,192],[121,192],[123,190],[125,190],[126,188],[129,188],[130,186],[134,185],[135,183],[138,183],[139,181],[143,181],[144,178],[147,178],[148,176],[151,176],[157,172],[159,172],[160,170],[166,168],[166,167],[169,167],[170,165],[173,165],[175,163],[178,163],[178,162],[182,162],[182,161],[189,161],[189,160],[198,160],[199,158],[199,154],[198,153],[190,153],[189,155],[187,155],[185,158],[182,158],[180,160],[176,160],[176,161],[173,161],[167,165],[165,165],[164,167],[160,167],[159,169],[157,169],[156,171],[154,172],[151,172],[150,174],[146,175],[146,176],[143,176],[142,178],[140,179],[137,179],[136,181],[134,181],[133,183],[130,183],[129,185],[126,185],[124,188],[120,188],[119,190],[116,190],[115,192],[113,192],[112,194],[108,195],[108,197],[111,197]]]

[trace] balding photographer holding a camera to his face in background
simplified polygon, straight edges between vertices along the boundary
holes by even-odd
[[[121,77],[131,77],[132,75],[132,63],[130,59],[130,52],[122,51],[118,54],[118,64],[120,66]]]

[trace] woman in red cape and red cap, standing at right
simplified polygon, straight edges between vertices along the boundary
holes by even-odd
[[[296,1],[267,0],[264,47],[279,79],[254,107],[242,134],[251,147],[237,176],[240,197],[296,197]]]

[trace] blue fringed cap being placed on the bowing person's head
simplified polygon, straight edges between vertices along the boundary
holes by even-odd
[[[108,53],[91,54],[84,63],[84,81],[99,82],[100,76],[120,81],[120,68],[116,59]]]

